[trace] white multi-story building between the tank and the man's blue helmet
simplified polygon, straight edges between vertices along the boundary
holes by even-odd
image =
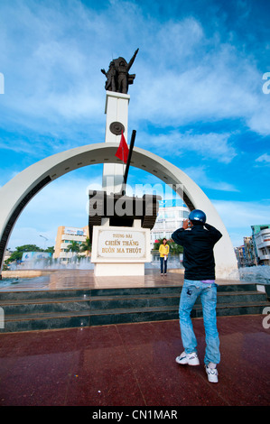
[[[172,233],[182,227],[182,222],[190,215],[190,211],[185,206],[160,207],[151,234],[151,249],[154,247],[154,241],[160,238],[170,239]]]

